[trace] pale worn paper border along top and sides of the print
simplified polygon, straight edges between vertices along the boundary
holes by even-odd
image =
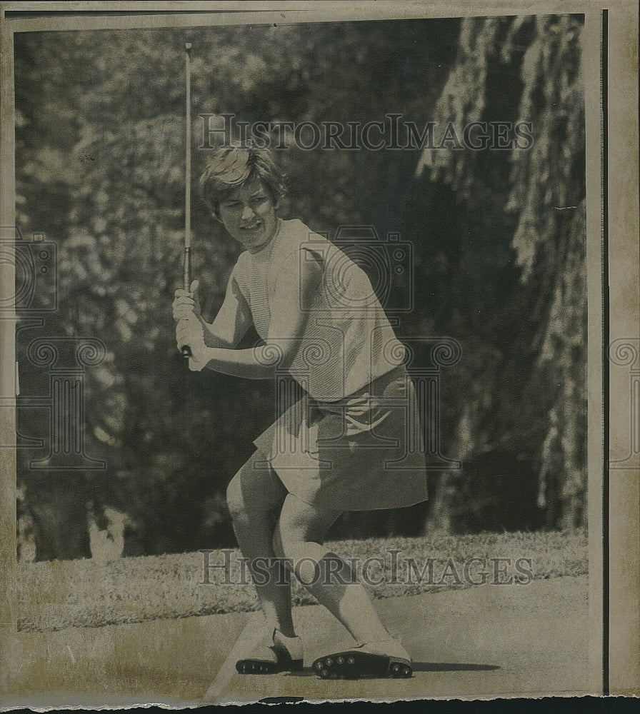
[[[114,11],[114,6],[117,10]],[[631,434],[622,402],[629,374],[612,366],[616,340],[638,340],[638,11],[634,2],[595,1],[252,3],[6,2],[2,13],[0,225],[15,225],[13,36],[16,32],[161,28],[209,24],[409,19],[446,16],[585,16],[587,293],[589,303],[589,672],[593,694],[640,692],[640,466],[616,468]],[[90,9],[89,9],[90,8]],[[161,8],[161,12],[158,9]],[[105,14],[106,13],[106,14]],[[111,14],[109,14],[111,13]],[[11,266],[0,280],[13,284]],[[636,289],[634,289],[634,287]],[[0,399],[15,394],[15,333],[0,316]],[[15,415],[1,410],[2,443]],[[0,451],[0,662],[16,655],[16,451]],[[596,527],[594,527],[596,524]],[[2,668],[0,667],[0,670]],[[0,675],[0,692],[3,685]],[[29,704],[26,702],[25,704]],[[0,706],[2,701],[0,700]]]

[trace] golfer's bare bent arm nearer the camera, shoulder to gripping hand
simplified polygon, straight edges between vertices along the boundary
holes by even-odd
[[[301,261],[297,252],[283,261],[271,301],[269,336],[266,344],[259,347],[234,350],[209,346],[197,318],[193,315],[182,318],[176,336],[179,343],[183,341],[191,347],[193,358],[189,360],[189,368],[200,371],[206,367],[248,379],[270,379],[276,367],[286,369],[299,349],[309,306],[321,279],[322,268],[316,261]]]

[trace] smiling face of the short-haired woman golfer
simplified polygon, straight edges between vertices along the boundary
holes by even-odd
[[[219,218],[231,237],[251,253],[266,246],[278,227],[271,193],[259,178],[250,178],[228,193],[220,201]]]

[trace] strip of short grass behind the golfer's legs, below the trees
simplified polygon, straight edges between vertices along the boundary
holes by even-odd
[[[499,563],[503,571],[499,575],[501,580],[517,576],[514,563],[519,558],[531,561],[524,568],[531,570],[534,579],[583,575],[589,564],[585,531],[375,538],[328,545],[343,558],[357,558],[352,562],[359,563],[358,570],[366,558],[381,559],[371,560],[366,568],[372,583],[382,581],[379,585],[365,585],[374,598],[482,587],[470,584],[479,582],[481,563],[474,561],[466,573],[468,577],[464,576],[464,563],[470,558],[486,561],[489,582],[494,578],[492,558],[510,560],[509,564],[506,560]],[[389,550],[400,551],[395,576],[391,572]],[[94,560],[19,563],[19,628],[62,630],[255,610],[254,588],[246,573],[242,582],[239,555],[236,550],[227,555],[220,550],[212,551],[211,565],[223,564],[226,557],[231,567],[227,572],[224,568],[211,568],[209,585],[203,584],[204,556],[199,552],[119,558],[106,563]],[[433,577],[429,578],[427,571],[421,580],[407,566],[410,558],[414,558],[420,571],[426,559],[432,558]],[[316,603],[295,581],[293,600],[294,605]]]

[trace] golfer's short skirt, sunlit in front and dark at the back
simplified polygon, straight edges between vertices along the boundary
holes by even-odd
[[[254,444],[289,493],[336,511],[404,508],[426,501],[424,439],[404,367],[348,397],[306,395]]]

